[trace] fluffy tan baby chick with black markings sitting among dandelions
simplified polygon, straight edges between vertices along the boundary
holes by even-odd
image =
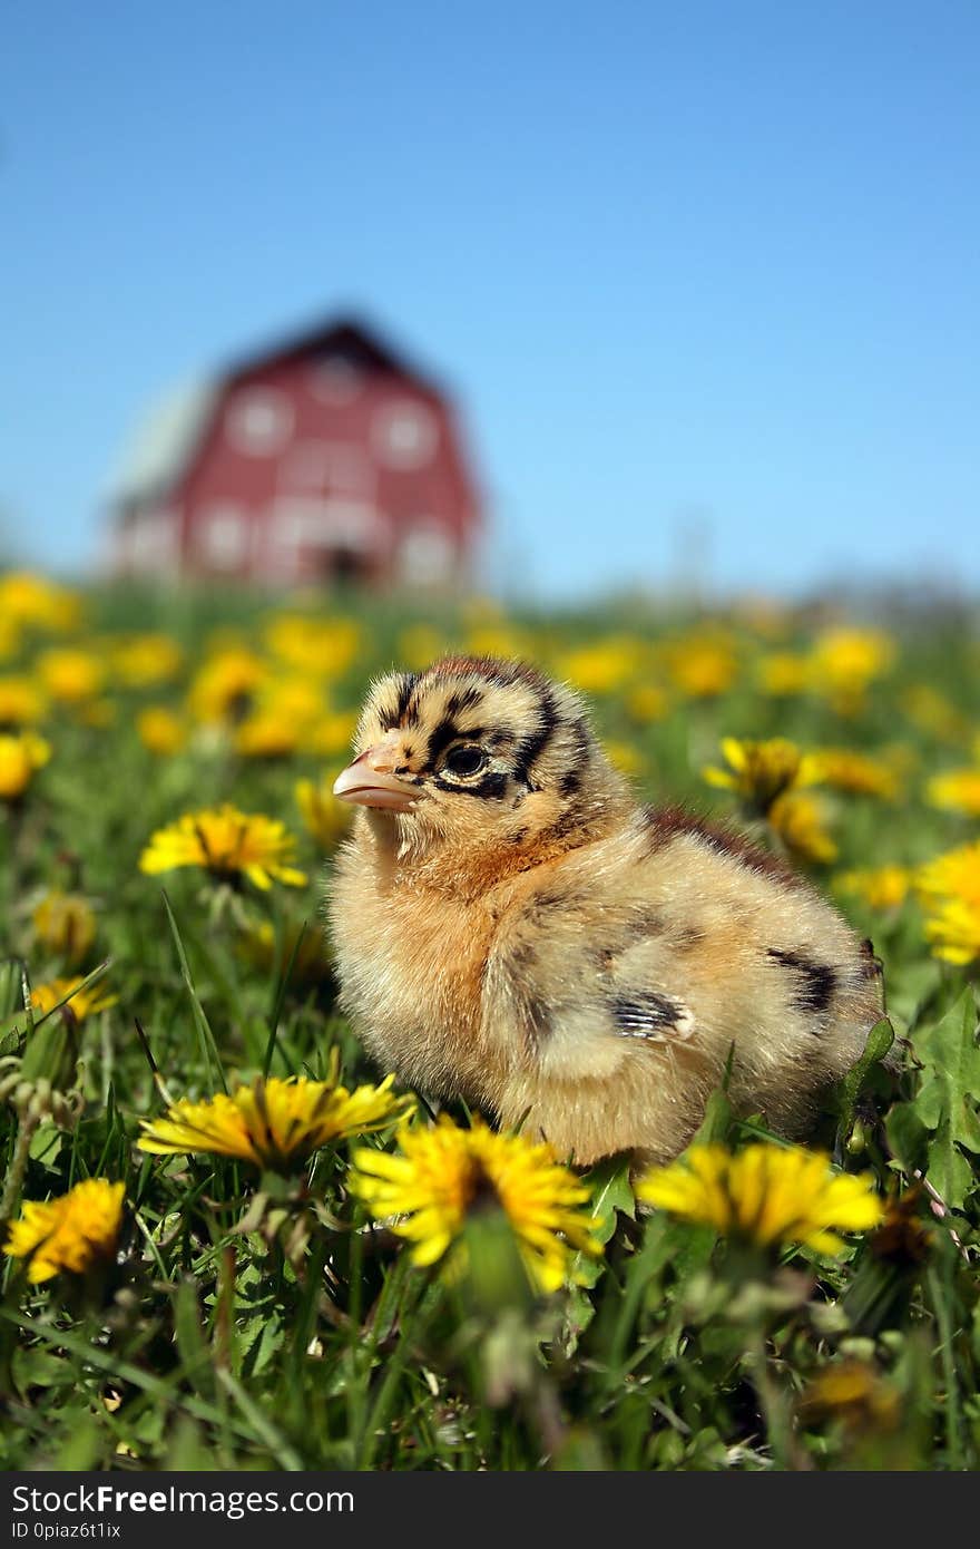
[[[579,1163],[677,1156],[718,1086],[779,1132],[881,1016],[869,943],[743,838],[641,807],[577,696],[514,661],[392,674],[334,795],[330,920],[375,1060]]]

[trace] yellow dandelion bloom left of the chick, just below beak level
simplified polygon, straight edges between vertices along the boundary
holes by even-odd
[[[255,888],[271,888],[272,881],[302,888],[305,872],[286,864],[294,847],[296,841],[279,819],[248,815],[226,802],[204,812],[186,812],[176,823],[158,829],[139,857],[139,871],[155,877],[178,866],[200,866],[223,881],[248,877]]]

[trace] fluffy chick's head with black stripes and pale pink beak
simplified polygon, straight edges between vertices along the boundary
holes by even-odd
[[[403,855],[567,847],[630,802],[577,696],[520,661],[393,672],[372,688],[355,744],[334,795]]]

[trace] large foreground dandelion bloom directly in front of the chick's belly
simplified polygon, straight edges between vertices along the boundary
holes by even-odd
[[[403,1129],[399,1154],[355,1152],[351,1191],[378,1219],[412,1242],[412,1262],[460,1252],[468,1218],[488,1204],[506,1216],[533,1284],[557,1290],[576,1252],[599,1255],[598,1222],[582,1208],[585,1185],[548,1145],[494,1134],[481,1120],[460,1129],[447,1117]],[[458,1262],[458,1259],[457,1259]]]

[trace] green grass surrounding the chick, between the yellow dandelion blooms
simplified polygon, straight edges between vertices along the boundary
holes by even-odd
[[[311,976],[299,973],[297,957],[288,973],[288,943],[303,922],[319,929],[330,886],[328,858],[302,827],[294,784],[342,759],[249,761],[228,739],[159,759],[135,733],[139,706],[184,703],[215,613],[259,641],[268,612],[268,603],[234,595],[88,599],[76,638],[102,652],[119,630],[167,629],[186,646],[186,668],[141,691],[110,678],[101,696],[111,706],[108,725],[53,713],[40,728],[50,764],[22,802],[6,810],[0,802],[0,1055],[15,1061],[45,1029],[63,1025],[56,1013],[29,1032],[22,999],[25,974],[40,984],[67,971],[33,923],[51,888],[94,903],[96,943],[71,971],[108,960],[104,987],[118,998],[77,1029],[81,1064],[68,1078],[84,1097],[77,1121],[39,1125],[14,1193],[43,1200],[91,1176],[122,1180],[127,1199],[118,1261],[101,1279],[60,1276],[31,1289],[6,1262],[0,1464],[975,1468],[977,1002],[966,970],[929,956],[913,900],[886,914],[844,900],[884,960],[899,1060],[896,1070],[869,1063],[834,1094],[816,1140],[844,1168],[870,1168],[882,1190],[923,1174],[943,1200],[934,1208],[923,1187],[910,1207],[929,1233],[926,1247],[907,1231],[882,1256],[853,1238],[836,1261],[786,1250],[762,1272],[711,1228],[638,1213],[625,1165],[613,1160],[590,1176],[607,1244],[587,1284],[545,1300],[494,1300],[472,1278],[447,1284],[410,1267],[398,1239],[372,1227],[348,1194],[345,1148],[316,1159],[302,1197],[262,1180],[271,1188],[265,1231],[240,1230],[249,1208],[257,1219],[260,1185],[248,1168],[136,1151],[139,1118],[163,1111],[161,1092],[206,1095],[265,1069],[322,1077],[333,1047],[348,1083],[376,1077],[336,1013],[328,960]],[[339,708],[355,706],[370,674],[401,658],[401,632],[420,621],[407,607],[370,601],[345,603],[345,612],[359,620],[362,646],[330,682]],[[639,666],[595,696],[596,720],[610,740],[635,750],[638,785],[652,799],[734,812],[701,778],[704,764],[718,762],[721,736],[779,734],[802,747],[873,753],[899,745],[901,799],[831,798],[839,860],[816,869],[821,886],[842,869],[918,864],[977,836],[975,818],[923,798],[930,773],[971,762],[969,728],[980,731],[978,647],[961,629],[926,620],[904,632],[893,668],[845,714],[822,696],[773,699],[757,688],[765,652],[808,649],[802,621],[788,621],[777,644],[735,623],[732,686],[704,700],[669,688],[666,714],[638,722],[629,689],[661,671],[664,635],[695,624],[641,609],[625,620],[595,612],[516,621],[543,661],[559,663],[564,652],[629,632]],[[464,644],[474,626],[446,613],[435,627],[446,643]],[[25,632],[0,677],[33,672],[46,644]],[[949,726],[923,730],[910,719],[913,685],[932,685],[951,702],[966,728],[960,740]],[[286,821],[310,874],[305,889],[215,897],[187,871],[163,878],[164,895],[159,878],[139,872],[156,827],[224,799]],[[243,923],[262,920],[277,943],[265,967],[242,950]],[[732,1145],[760,1128],[732,1117],[721,1094],[706,1125]],[[0,1109],[8,1182],[19,1135],[23,1143],[8,1103]],[[15,1214],[19,1200],[11,1205]],[[302,1250],[288,1241],[299,1216]],[[492,1236],[483,1245],[508,1252]],[[864,1399],[836,1408],[810,1402],[811,1385],[842,1369],[859,1369]]]

